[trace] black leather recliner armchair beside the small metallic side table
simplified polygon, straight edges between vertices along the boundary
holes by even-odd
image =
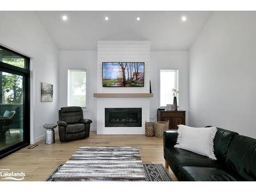
[[[83,139],[90,136],[91,119],[83,119],[80,106],[66,106],[59,110],[57,121],[60,141]]]

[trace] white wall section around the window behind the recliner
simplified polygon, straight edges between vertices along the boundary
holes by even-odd
[[[59,108],[68,105],[68,69],[87,69],[87,109],[84,118],[92,119],[96,131],[97,51],[59,51]]]

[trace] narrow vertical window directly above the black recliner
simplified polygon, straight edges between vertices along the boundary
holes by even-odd
[[[86,69],[68,70],[68,106],[86,109]]]

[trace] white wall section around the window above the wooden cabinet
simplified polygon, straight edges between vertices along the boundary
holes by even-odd
[[[156,110],[160,107],[160,69],[179,70],[179,110],[186,111],[186,124],[188,124],[188,52],[151,51],[151,87],[154,93],[154,97],[150,99],[151,118],[156,117]]]

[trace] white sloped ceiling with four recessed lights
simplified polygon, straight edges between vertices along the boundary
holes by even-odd
[[[188,50],[211,11],[36,11],[59,50],[97,50],[98,40],[150,40],[153,51]],[[64,22],[62,15],[67,15]],[[182,22],[181,16],[187,16]],[[109,20],[104,20],[109,16]],[[137,21],[136,17],[141,20]]]

